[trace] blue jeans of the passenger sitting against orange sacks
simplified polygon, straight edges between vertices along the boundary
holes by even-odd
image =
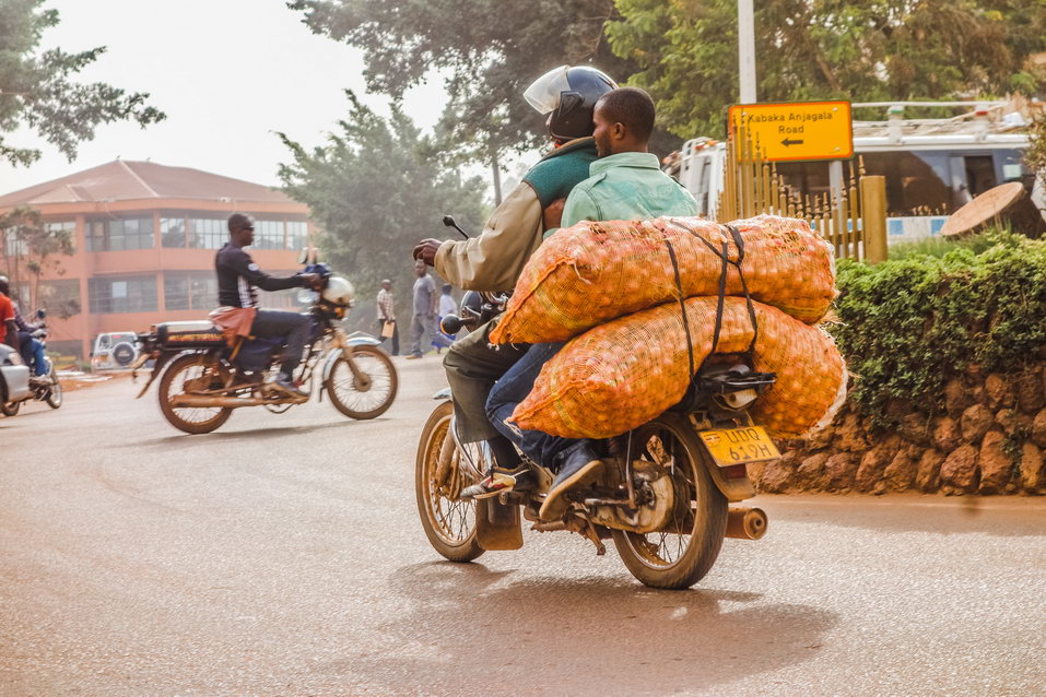
[[[494,383],[486,399],[486,416],[494,428],[512,440],[524,454],[544,466],[552,466],[559,456],[568,454],[581,446],[592,446],[587,438],[561,438],[540,430],[524,430],[506,422],[516,405],[533,389],[541,366],[560,352],[565,342],[534,344],[508,371]]]

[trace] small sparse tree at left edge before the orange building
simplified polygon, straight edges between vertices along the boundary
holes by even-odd
[[[60,257],[75,252],[73,231],[48,225],[35,209],[17,208],[0,216],[0,251],[12,286],[19,288],[28,282],[30,296],[20,299],[28,307],[38,307],[44,275],[66,274]],[[80,312],[80,302],[61,299],[51,310],[62,318],[72,317]]]

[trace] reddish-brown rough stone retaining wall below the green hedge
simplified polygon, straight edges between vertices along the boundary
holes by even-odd
[[[894,400],[893,428],[847,403],[824,432],[781,444],[780,461],[750,473],[765,493],[1046,494],[1046,362],[1009,375],[972,366],[944,398],[935,415]]]

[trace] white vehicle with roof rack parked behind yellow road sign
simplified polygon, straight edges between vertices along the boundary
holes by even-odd
[[[873,103],[885,107],[885,121],[854,121],[855,157],[865,174],[886,178],[889,244],[940,234],[948,216],[974,197],[1008,181],[1021,181],[1039,208],[1043,182],[1027,170],[1022,153],[1029,146],[1026,107],[1012,102]],[[949,119],[906,119],[906,107],[974,107]],[[722,190],[726,145],[708,138],[684,143],[669,170],[694,198],[702,215],[715,217]],[[857,163],[853,163],[856,167]],[[848,170],[849,162],[843,166]],[[802,193],[832,190],[831,163],[781,162],[777,172]]]

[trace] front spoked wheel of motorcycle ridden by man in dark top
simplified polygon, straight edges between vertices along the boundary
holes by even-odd
[[[352,418],[374,418],[392,405],[399,383],[396,366],[377,346],[356,346],[352,362],[366,377],[359,379],[344,356],[339,356],[324,381],[324,387],[338,411]]]

